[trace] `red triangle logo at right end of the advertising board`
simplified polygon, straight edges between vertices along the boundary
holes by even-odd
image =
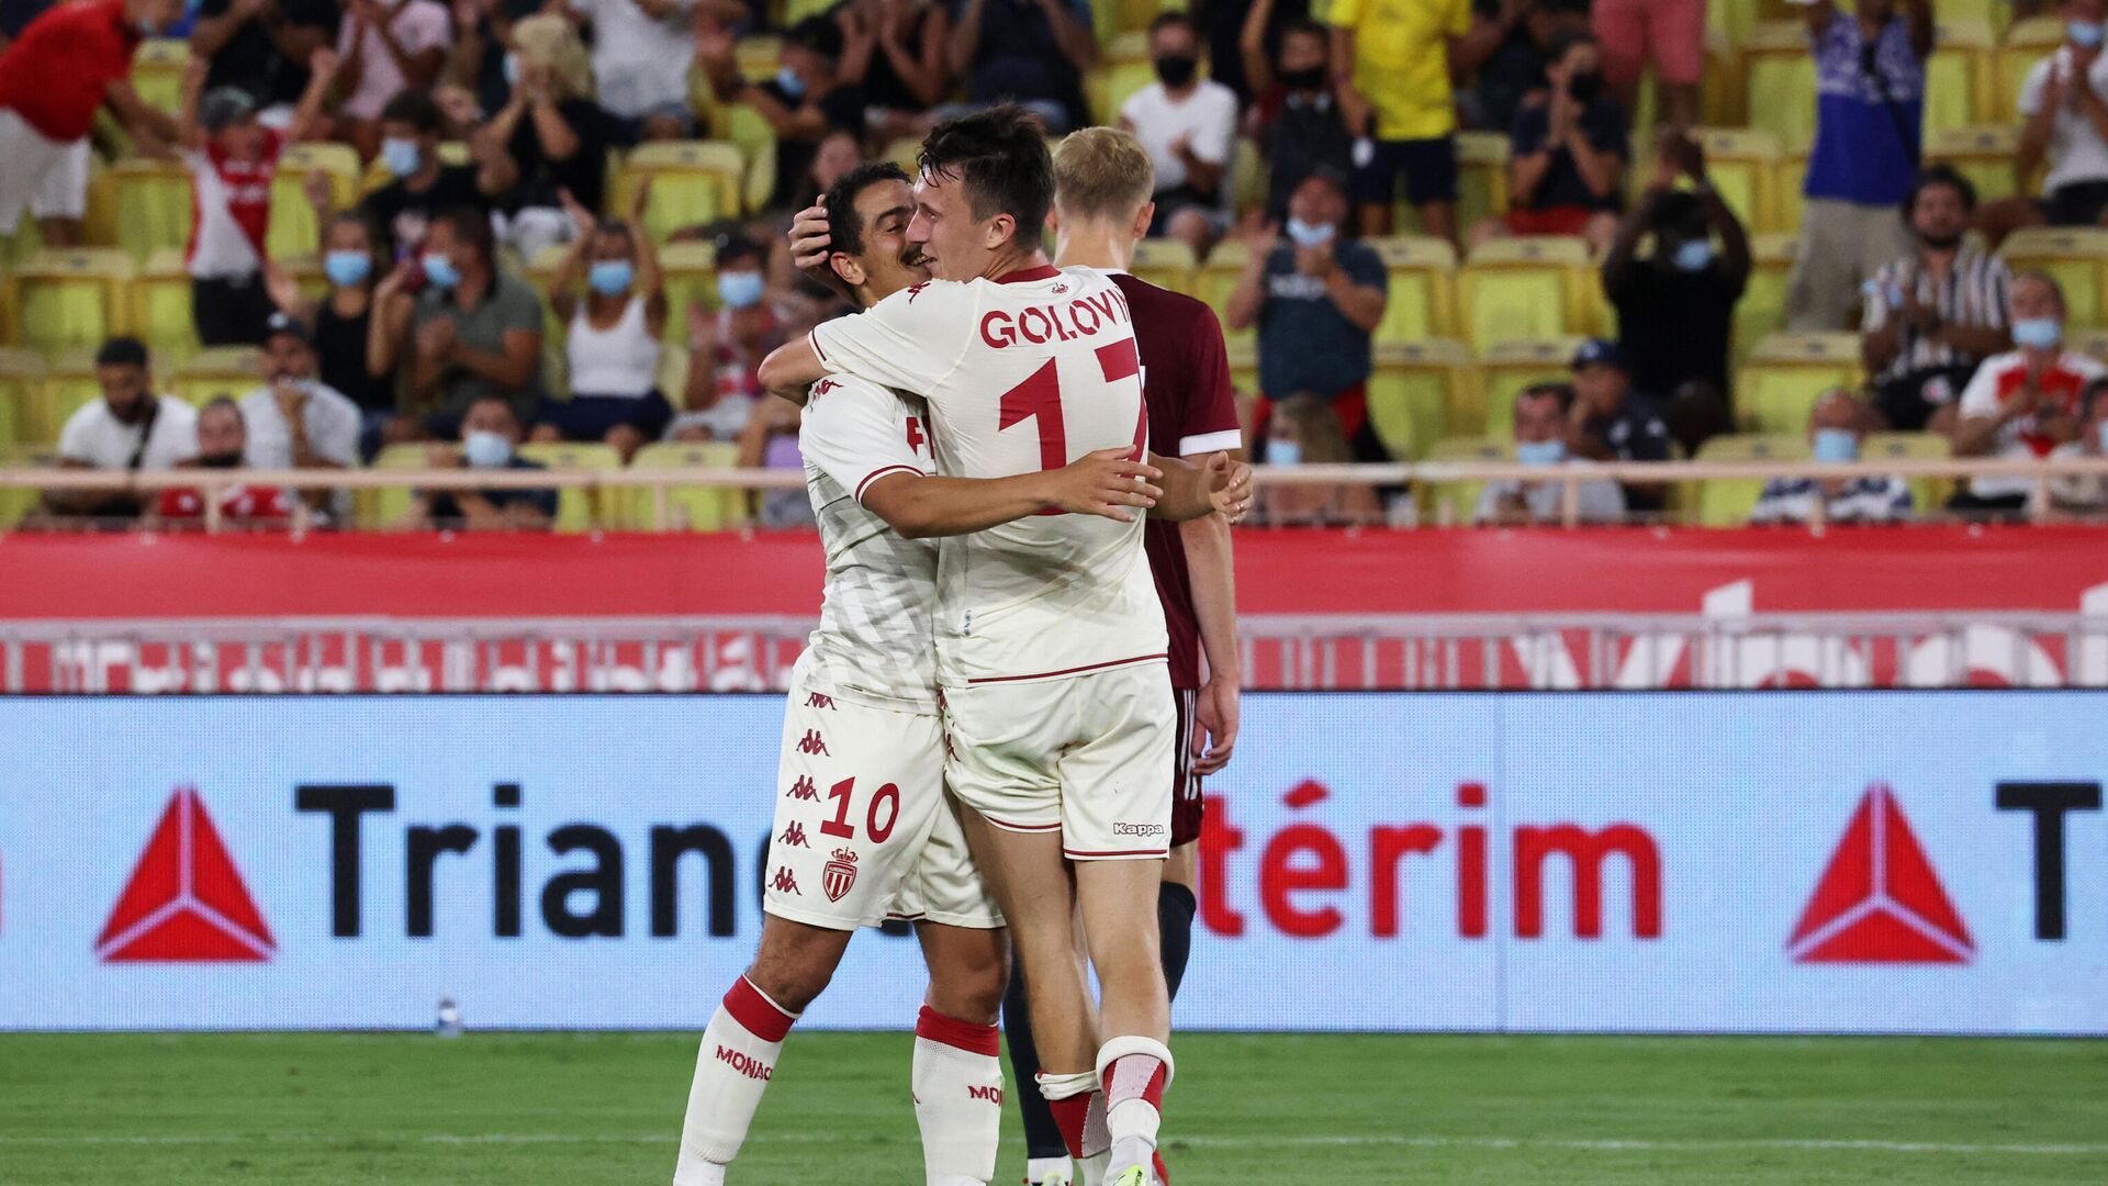
[[[1796,964],[1967,964],[1975,954],[1887,783],[1866,789],[1785,950]]]

